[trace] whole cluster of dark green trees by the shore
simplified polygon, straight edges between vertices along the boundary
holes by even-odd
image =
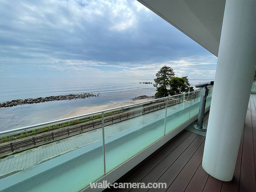
[[[183,92],[194,91],[188,82],[188,76],[175,77],[171,67],[164,66],[157,73],[153,84],[156,87],[156,97],[166,97]]]

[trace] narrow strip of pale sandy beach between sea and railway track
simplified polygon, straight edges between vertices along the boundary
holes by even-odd
[[[93,112],[97,112],[97,111],[103,111],[103,110],[107,110],[107,109],[111,109],[111,108],[124,107],[127,105],[141,103],[141,102],[149,101],[149,100],[153,100],[153,99],[131,100],[131,101],[127,101],[124,103],[116,103],[116,104],[110,104],[110,105],[100,105],[100,106],[94,106],[94,107],[79,108],[79,109],[76,109],[75,111],[72,111],[68,115],[60,117],[59,119],[65,119],[68,117],[74,117],[74,116],[84,115],[84,114],[93,113]]]

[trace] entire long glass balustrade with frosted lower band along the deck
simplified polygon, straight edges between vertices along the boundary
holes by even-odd
[[[206,107],[211,97],[212,88]],[[0,153],[21,139],[38,147],[0,161],[0,190],[79,191],[197,115],[200,99],[201,90],[1,132]]]

